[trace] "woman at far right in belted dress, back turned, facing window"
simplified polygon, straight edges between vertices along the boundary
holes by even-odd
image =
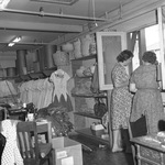
[[[132,73],[130,81],[130,90],[135,92],[131,121],[136,121],[145,111],[148,133],[155,133],[158,131],[158,121],[164,118],[162,96],[156,81],[156,54],[145,52],[142,62],[143,65]]]

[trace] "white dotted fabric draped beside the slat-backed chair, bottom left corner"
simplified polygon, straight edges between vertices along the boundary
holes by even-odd
[[[1,165],[23,165],[23,160],[16,143],[16,123],[18,121],[15,120],[1,121],[1,133],[7,140],[1,157]]]

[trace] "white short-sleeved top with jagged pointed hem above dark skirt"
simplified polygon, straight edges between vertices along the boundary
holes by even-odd
[[[67,80],[69,78],[70,76],[62,69],[57,69],[51,75],[50,80],[55,86],[53,98],[57,96],[57,99],[59,101],[61,96],[63,95],[65,100],[67,100]]]

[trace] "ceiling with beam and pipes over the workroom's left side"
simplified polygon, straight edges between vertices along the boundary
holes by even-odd
[[[0,52],[32,51],[65,34],[81,33],[89,24],[108,21],[107,13],[133,0],[76,0],[70,6],[53,1],[72,0],[44,1],[10,0],[7,8],[0,10]],[[21,42],[9,47],[8,43],[15,36],[21,36]]]

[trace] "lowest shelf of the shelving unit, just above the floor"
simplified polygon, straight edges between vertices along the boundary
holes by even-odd
[[[85,138],[88,138],[88,139],[91,139],[96,142],[99,142],[99,143],[102,143],[102,144],[106,144],[106,145],[110,145],[109,143],[109,140],[103,140],[99,136],[96,136],[91,133],[91,130],[89,128],[87,129],[81,129],[81,130],[76,130],[76,132]]]

